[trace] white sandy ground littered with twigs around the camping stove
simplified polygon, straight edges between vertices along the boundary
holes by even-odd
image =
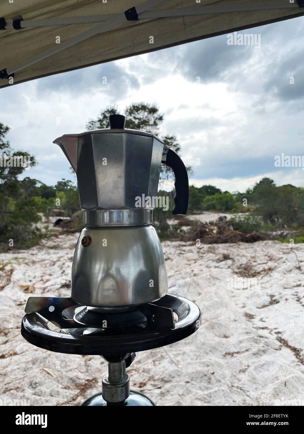
[[[79,405],[101,390],[101,358],[20,335],[29,296],[69,295],[77,237],[0,255],[0,404]],[[303,405],[304,245],[166,241],[163,251],[169,292],[195,301],[203,322],[183,341],[137,353],[131,388],[157,405]]]

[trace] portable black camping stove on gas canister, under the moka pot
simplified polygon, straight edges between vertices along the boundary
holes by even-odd
[[[173,294],[120,309],[81,306],[71,297],[30,297],[25,311],[21,334],[31,344],[67,354],[101,355],[108,362],[102,392],[88,398],[85,406],[155,405],[130,391],[126,368],[137,351],[180,341],[200,325],[198,306]],[[49,322],[60,332],[49,329]]]

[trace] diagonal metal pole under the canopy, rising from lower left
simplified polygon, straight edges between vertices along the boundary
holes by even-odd
[[[150,9],[150,7],[157,6],[160,3],[163,3],[165,0],[148,0],[145,3],[139,5],[137,7],[137,13],[144,12],[147,9]],[[126,11],[127,12],[127,11]],[[129,10],[130,12],[130,10]],[[125,13],[119,13],[116,14],[115,18],[112,18],[111,20],[106,21],[105,23],[99,24],[99,26],[95,26],[92,29],[89,29],[83,33],[80,33],[77,36],[74,36],[71,39],[68,39],[67,41],[64,41],[62,43],[56,44],[52,48],[49,48],[46,51],[43,51],[42,53],[39,53],[37,56],[32,57],[31,59],[26,60],[25,62],[22,62],[18,65],[11,66],[10,68],[3,69],[6,73],[6,78],[9,78],[12,76],[15,72],[20,71],[20,69],[24,69],[27,66],[31,66],[34,63],[39,62],[40,60],[46,59],[49,56],[52,56],[53,54],[59,53],[60,51],[64,50],[65,48],[69,48],[79,42],[84,41],[85,39],[90,38],[91,36],[95,36],[98,33],[102,33],[105,30],[110,29],[111,27],[116,26],[117,24],[122,23],[126,20]],[[3,74],[3,71],[2,74]]]

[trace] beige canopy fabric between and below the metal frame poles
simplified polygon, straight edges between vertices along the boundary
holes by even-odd
[[[0,0],[0,16],[3,16],[7,22],[19,15],[24,20],[39,20],[123,13],[129,7],[136,7],[145,2],[145,0],[107,0],[106,2],[105,0],[13,0],[13,3],[10,1],[12,0]],[[200,0],[197,3],[198,1],[164,0],[152,10],[199,8],[210,4],[227,5],[247,2],[247,0]],[[276,2],[276,0],[268,1]],[[256,0],[256,3],[259,2],[265,3],[265,0]],[[286,2],[289,3],[289,0]],[[252,3],[252,0],[249,3]],[[14,84],[302,15],[304,9],[294,7],[138,21],[125,20],[104,33],[92,36],[16,72]],[[51,48],[56,44],[57,36],[60,36],[61,41],[65,41],[96,25],[98,24],[0,30],[0,70],[9,69]],[[150,43],[150,36],[154,37],[154,43]],[[7,79],[0,80],[0,87],[7,85],[10,85]]]

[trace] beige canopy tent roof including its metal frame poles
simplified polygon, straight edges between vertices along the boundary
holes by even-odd
[[[304,0],[10,1],[0,87],[304,15]]]

